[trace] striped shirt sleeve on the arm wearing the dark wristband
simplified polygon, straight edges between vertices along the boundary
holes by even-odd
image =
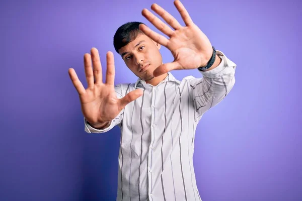
[[[194,110],[203,115],[210,108],[216,106],[229,94],[235,84],[236,64],[221,51],[216,51],[222,59],[220,64],[209,71],[200,71],[203,78],[190,81],[193,88]]]

